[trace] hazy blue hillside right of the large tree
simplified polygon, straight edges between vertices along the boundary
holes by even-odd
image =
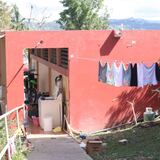
[[[123,24],[124,29],[140,29],[140,30],[159,30],[160,21],[150,21],[144,19],[110,19],[111,28],[120,28]]]

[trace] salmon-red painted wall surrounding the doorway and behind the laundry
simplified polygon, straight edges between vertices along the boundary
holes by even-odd
[[[132,101],[135,97],[137,116],[147,106],[154,109],[160,106],[158,94],[152,92],[157,86],[142,89],[98,82],[99,60],[144,61],[147,65],[157,61],[160,58],[160,31],[123,31],[120,39],[114,38],[112,31],[7,32],[6,40],[8,83],[22,63],[13,64],[12,59],[17,56],[21,60],[24,48],[34,48],[40,40],[43,40],[40,48],[69,48],[69,111],[70,123],[75,129],[91,131],[132,120],[127,100]],[[16,103],[23,100],[19,97],[23,91],[22,82],[20,75],[17,84],[9,89],[10,105],[14,102],[15,88]]]

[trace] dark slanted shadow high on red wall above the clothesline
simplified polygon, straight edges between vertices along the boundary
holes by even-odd
[[[101,56],[109,55],[114,46],[119,41],[119,39],[120,37],[114,37],[114,30],[111,31],[110,35],[108,36],[108,38],[106,39],[106,41],[104,42],[104,44],[100,49],[100,55]]]

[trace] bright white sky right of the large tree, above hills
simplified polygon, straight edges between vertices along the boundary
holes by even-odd
[[[159,0],[105,0],[111,18],[160,19]]]

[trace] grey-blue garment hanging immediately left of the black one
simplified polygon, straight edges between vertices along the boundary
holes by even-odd
[[[123,68],[124,68],[123,85],[130,86],[130,83],[131,83],[131,64],[128,64],[127,68],[123,64]]]

